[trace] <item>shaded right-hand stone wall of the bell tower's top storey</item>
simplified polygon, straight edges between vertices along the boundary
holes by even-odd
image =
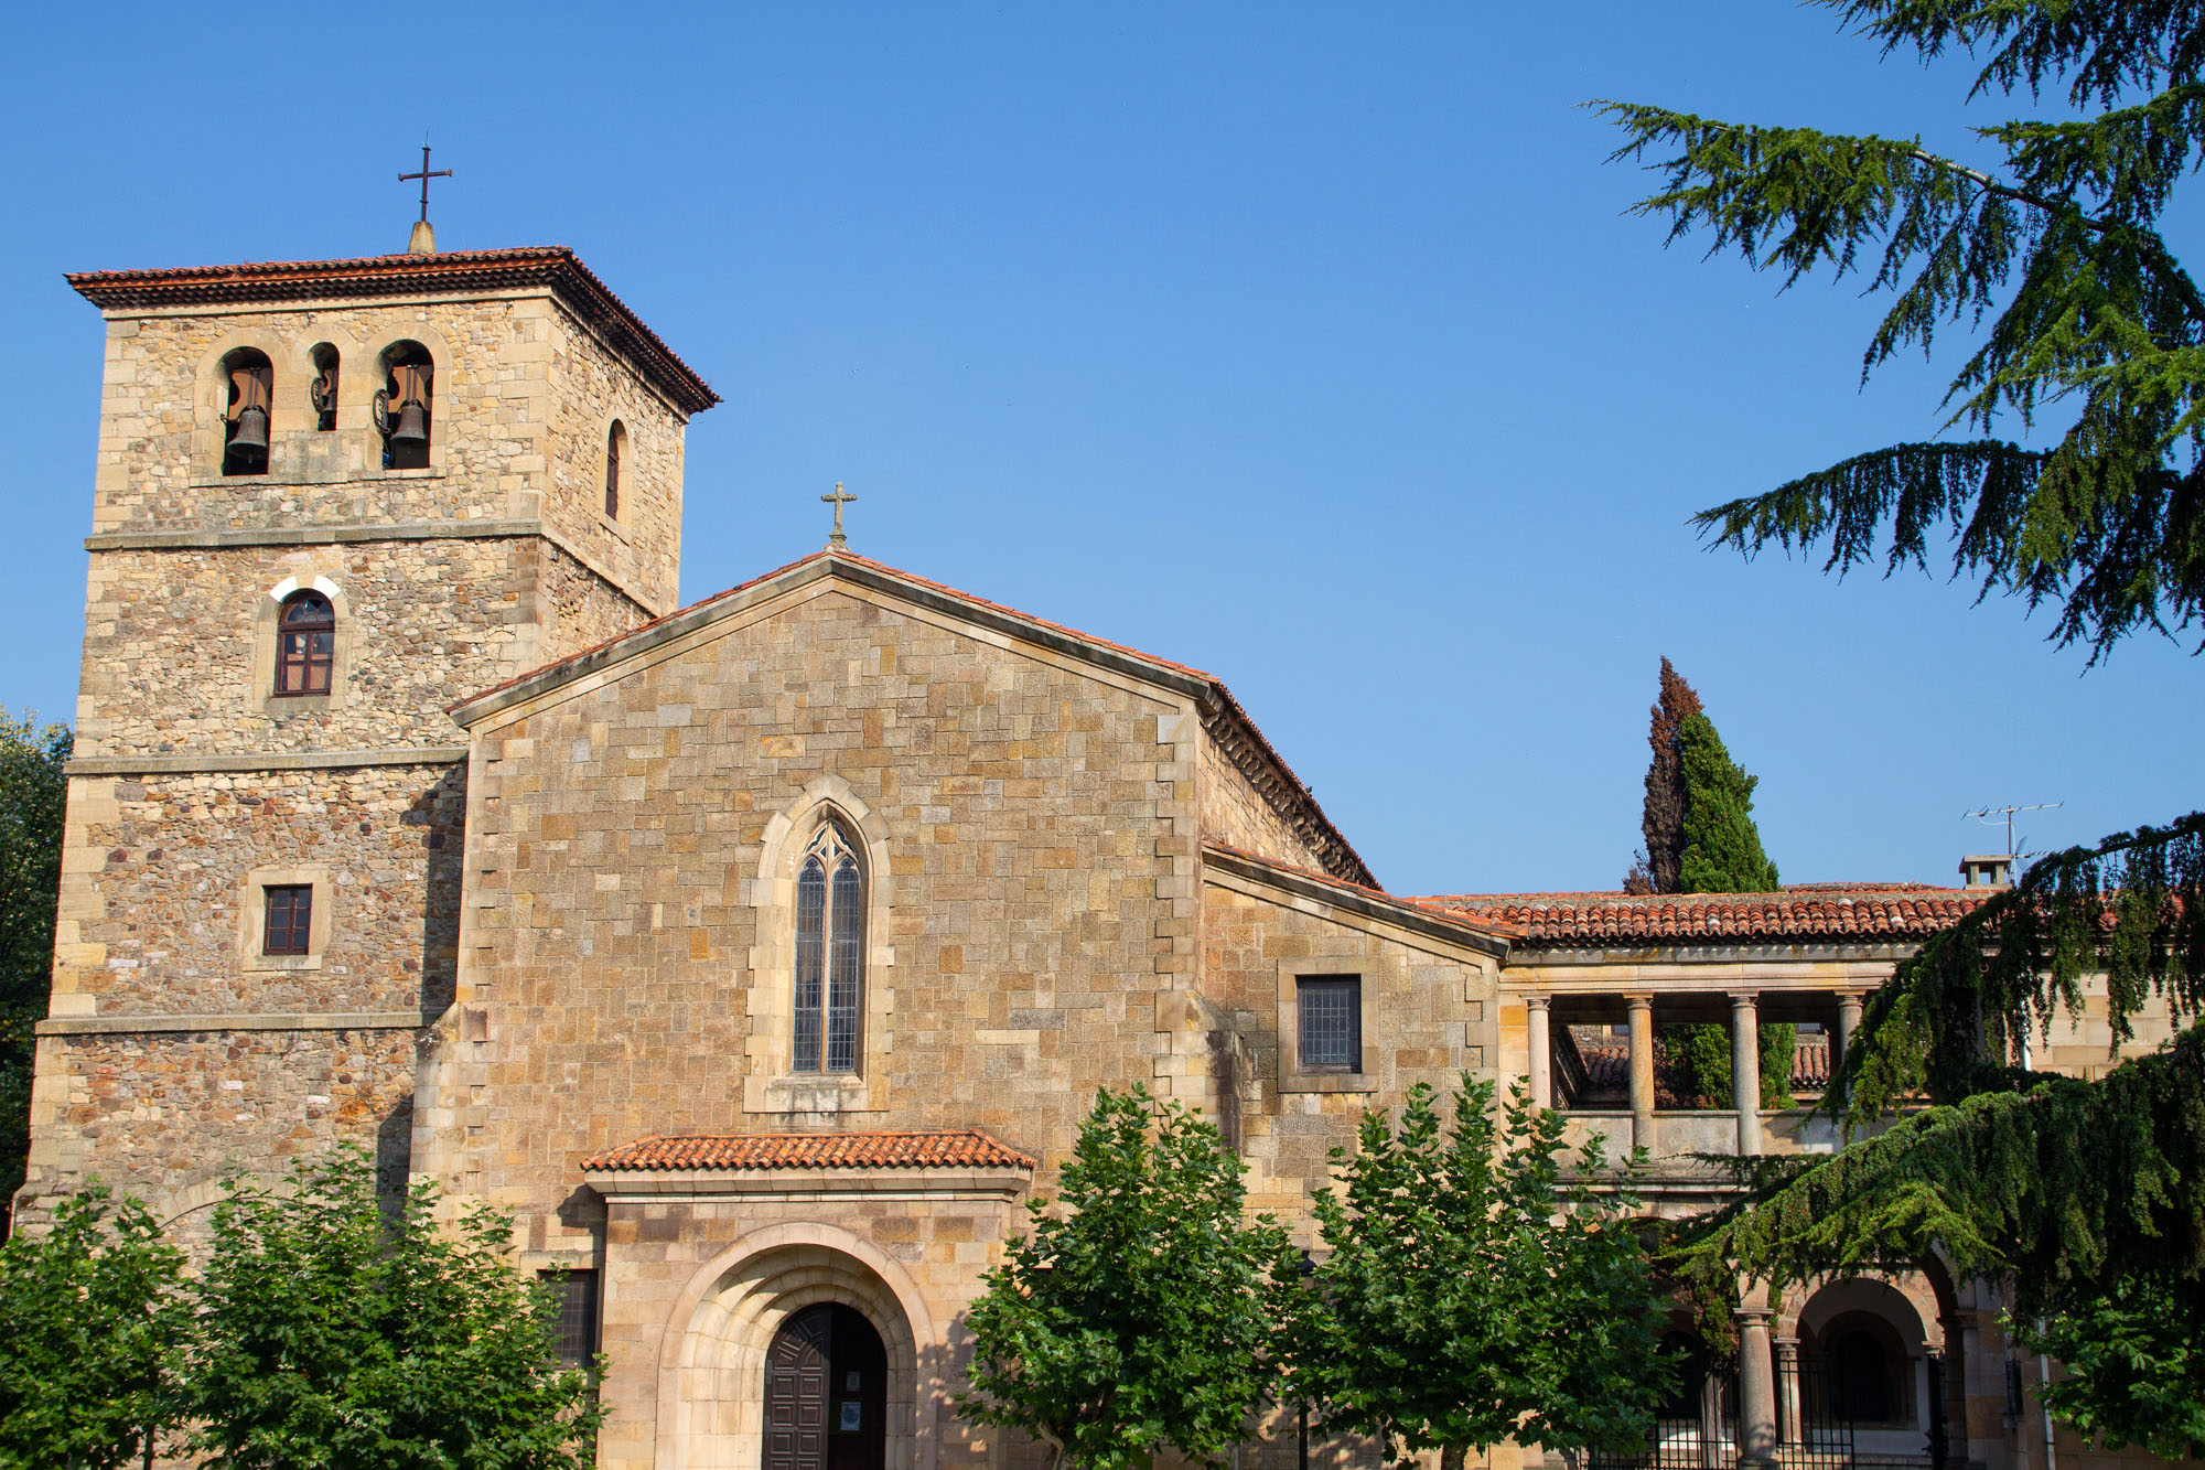
[[[551,340],[551,470],[542,516],[569,545],[635,589],[653,614],[681,605],[681,435],[686,417],[580,322]],[[620,516],[604,514],[604,439],[628,430]]]

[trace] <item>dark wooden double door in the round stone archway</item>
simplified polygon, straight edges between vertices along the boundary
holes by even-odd
[[[884,1470],[889,1353],[862,1311],[805,1307],[765,1353],[765,1470]]]

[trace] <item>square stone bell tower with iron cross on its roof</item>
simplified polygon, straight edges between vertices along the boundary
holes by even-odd
[[[423,245],[68,278],[108,340],[33,1214],[99,1174],[183,1221],[318,1139],[404,1176],[445,706],[679,603],[719,397],[571,249]]]

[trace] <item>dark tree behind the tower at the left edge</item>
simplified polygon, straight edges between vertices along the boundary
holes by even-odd
[[[0,1227],[31,1152],[33,1026],[46,1015],[71,735],[0,706]]]

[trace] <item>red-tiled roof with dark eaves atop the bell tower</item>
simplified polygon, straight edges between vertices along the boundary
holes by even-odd
[[[719,393],[681,362],[655,331],[644,327],[644,320],[628,311],[626,302],[613,296],[564,245],[450,249],[434,256],[357,256],[353,260],[247,260],[243,265],[187,265],[157,271],[75,271],[66,280],[104,311],[549,287],[576,316],[635,358],[684,413],[703,413],[719,402]]]

